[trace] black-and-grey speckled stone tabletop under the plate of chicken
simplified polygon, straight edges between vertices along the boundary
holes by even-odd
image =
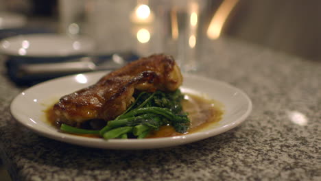
[[[0,153],[12,178],[321,180],[321,63],[224,38],[204,45],[198,74],[244,90],[252,114],[238,128],[165,149],[91,149],[38,136],[11,117],[23,88],[1,67]]]

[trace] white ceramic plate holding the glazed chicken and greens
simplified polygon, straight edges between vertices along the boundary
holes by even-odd
[[[71,75],[28,88],[12,101],[12,115],[30,130],[58,141],[104,149],[152,149],[200,141],[226,132],[242,123],[252,110],[252,102],[238,88],[205,77],[184,75],[185,81],[181,87],[183,92],[206,95],[224,104],[222,121],[213,124],[206,130],[185,134],[184,136],[110,140],[65,134],[58,132],[56,128],[45,123],[44,110],[52,105],[54,101],[58,101],[62,95],[67,95],[80,88],[95,84],[105,74],[106,72]]]

